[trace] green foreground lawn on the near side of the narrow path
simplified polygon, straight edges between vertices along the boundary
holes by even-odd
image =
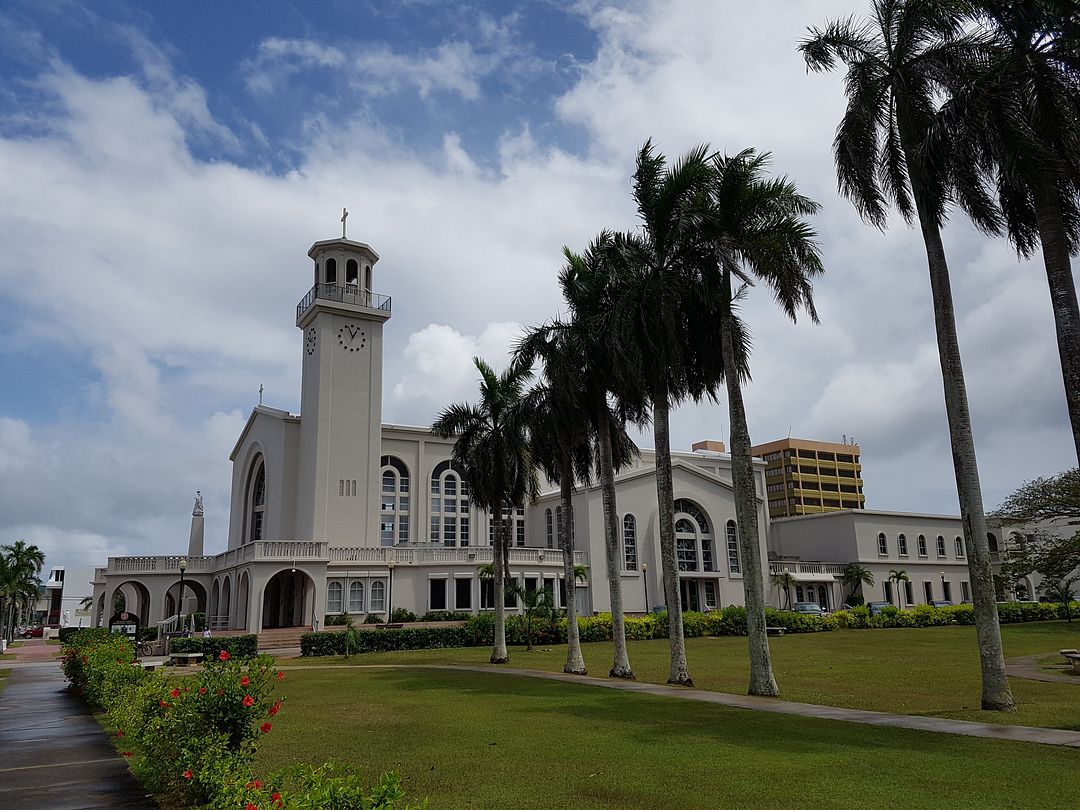
[[[476,673],[294,670],[281,686],[260,766],[396,770],[433,810],[987,810],[1067,807],[1080,792],[1080,752],[1027,743]]]

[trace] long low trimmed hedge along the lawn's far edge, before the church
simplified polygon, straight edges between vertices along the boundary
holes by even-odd
[[[1074,604],[1072,612],[1080,612],[1080,605]],[[1065,606],[1048,603],[1001,603],[998,617],[1002,624],[1028,621],[1066,619]],[[971,605],[954,605],[935,608],[919,605],[909,610],[887,607],[870,616],[865,605],[838,610],[829,616],[806,616],[792,610],[765,609],[766,624],[783,627],[788,633],[822,633],[833,630],[878,630],[889,627],[933,627],[947,624],[974,624],[975,613]],[[625,619],[626,637],[643,640],[667,637],[667,613],[650,613]],[[578,619],[582,643],[611,640],[611,615],[597,613]],[[364,631],[360,634],[357,652],[392,652],[396,650],[442,649],[447,647],[485,647],[495,642],[495,613],[484,612],[469,617],[461,626],[454,627],[405,627],[401,630]],[[746,635],[746,609],[729,605],[723,610],[708,613],[687,611],[683,613],[683,635],[698,636],[744,636]],[[554,622],[535,620],[532,624],[535,644],[566,644],[566,619]],[[524,645],[525,617],[517,613],[507,617],[507,644]],[[352,650],[350,650],[352,651]],[[302,656],[345,654],[342,633],[305,633],[300,639]]]

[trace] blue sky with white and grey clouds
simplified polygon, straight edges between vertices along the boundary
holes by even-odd
[[[836,193],[840,76],[808,25],[861,0],[8,2],[0,8],[0,538],[52,564],[183,550],[265,386],[299,406],[306,252],[339,232],[393,296],[383,417],[426,424],[559,309],[563,245],[632,228],[652,137],[770,150],[822,202],[821,326],[751,296],[755,441],[863,447],[868,504],[955,513],[924,255]],[[946,230],[984,491],[1075,463],[1045,279]],[[726,438],[687,405],[673,446]],[[645,445],[651,436],[644,435]]]

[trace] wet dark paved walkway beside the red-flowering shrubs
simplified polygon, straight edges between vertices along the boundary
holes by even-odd
[[[0,691],[4,807],[157,807],[86,705],[68,692],[57,663],[17,663],[6,669],[11,675]]]

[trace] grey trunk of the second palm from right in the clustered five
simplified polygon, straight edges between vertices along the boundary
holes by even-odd
[[[667,602],[667,638],[672,669],[669,684],[693,686],[686,666],[683,637],[683,602],[679,595],[678,562],[675,554],[675,492],[672,488],[672,450],[667,427],[667,387],[659,386],[652,400],[652,430],[657,445],[657,504],[660,510],[660,567],[663,569],[664,599]]]

